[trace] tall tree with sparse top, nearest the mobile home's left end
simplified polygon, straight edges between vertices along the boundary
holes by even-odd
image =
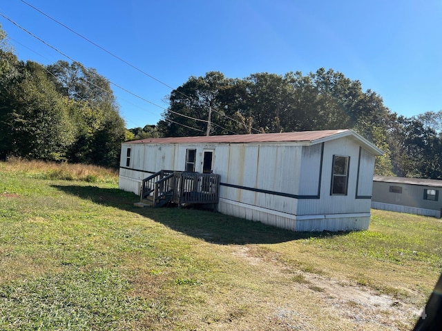
[[[109,81],[78,62],[58,61],[48,71],[57,90],[73,101],[70,117],[77,128],[69,160],[117,166],[126,128]]]

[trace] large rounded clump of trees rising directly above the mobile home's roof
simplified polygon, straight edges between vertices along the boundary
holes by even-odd
[[[171,93],[159,130],[165,137],[202,135],[209,110],[211,134],[354,129],[385,152],[376,159],[376,173],[392,174],[390,110],[378,94],[364,92],[360,81],[332,69],[245,79],[220,72],[190,77]]]

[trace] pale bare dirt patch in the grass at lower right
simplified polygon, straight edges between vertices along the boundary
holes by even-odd
[[[355,281],[301,270],[296,270],[294,276],[293,272],[287,272],[284,265],[256,256],[253,248],[247,246],[239,246],[232,254],[247,260],[250,265],[269,270],[270,279],[285,279],[281,285],[289,289],[286,292],[296,293],[293,297],[309,297],[310,301],[316,302],[312,306],[318,306],[321,317],[302,310],[302,304],[298,303],[300,300],[296,301],[289,295],[276,303],[273,318],[284,323],[288,330],[315,330],[317,326],[313,321],[320,318],[334,319],[329,325],[335,327],[340,323],[353,325],[354,330],[409,330],[412,327],[409,321],[419,317],[419,309],[414,305],[358,285]]]

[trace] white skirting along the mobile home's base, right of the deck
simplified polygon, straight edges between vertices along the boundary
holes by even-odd
[[[273,225],[292,231],[351,231],[367,230],[370,214],[320,214],[296,216],[276,210],[247,205],[238,201],[220,199],[218,212],[251,221]]]

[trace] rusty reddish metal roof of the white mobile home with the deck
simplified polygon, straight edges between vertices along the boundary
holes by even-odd
[[[352,136],[362,143],[375,155],[382,155],[374,144],[370,143],[353,130],[320,130],[302,132],[281,132],[281,133],[261,133],[261,134],[233,134],[222,136],[198,136],[198,137],[169,137],[169,138],[146,138],[126,143],[285,143],[299,142],[314,144],[337,139],[339,137]]]

